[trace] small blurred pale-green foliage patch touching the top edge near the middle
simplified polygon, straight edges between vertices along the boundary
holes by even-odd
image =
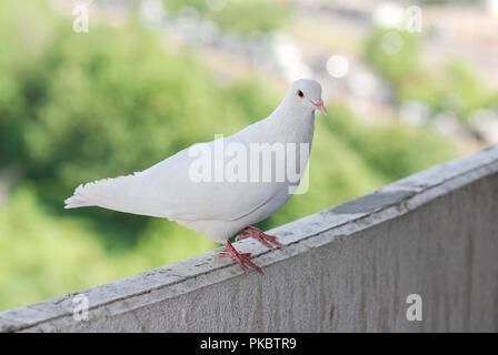
[[[186,6],[192,7],[217,22],[221,29],[241,36],[282,28],[289,22],[291,14],[289,4],[269,0],[228,0],[218,11],[210,10],[205,0],[165,0],[165,3],[173,12]]]

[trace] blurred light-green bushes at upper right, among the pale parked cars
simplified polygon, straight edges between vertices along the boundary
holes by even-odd
[[[396,53],[386,51],[385,45],[386,36],[392,33],[402,39]],[[366,60],[392,85],[398,102],[417,100],[426,103],[434,114],[454,112],[464,122],[474,110],[496,104],[498,93],[490,93],[468,63],[454,59],[440,70],[428,70],[422,67],[418,51],[415,34],[392,29],[377,30],[365,43]]]

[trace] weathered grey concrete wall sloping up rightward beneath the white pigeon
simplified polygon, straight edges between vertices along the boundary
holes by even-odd
[[[212,251],[0,312],[0,331],[497,332],[497,172],[492,148],[271,231],[286,250],[238,242],[265,275]],[[406,317],[410,294],[422,321]]]

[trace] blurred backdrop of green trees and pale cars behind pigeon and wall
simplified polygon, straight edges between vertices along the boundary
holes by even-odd
[[[313,78],[310,189],[270,229],[498,143],[497,64],[496,0],[1,0],[0,310],[219,246],[63,210],[82,182],[232,134]]]

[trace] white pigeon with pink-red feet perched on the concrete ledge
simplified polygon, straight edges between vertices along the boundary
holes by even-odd
[[[291,187],[296,185],[296,182],[287,178],[283,181],[278,180],[275,178],[277,176],[276,172],[271,173],[270,181],[262,178],[260,181],[252,179],[236,181],[221,179],[220,181],[216,178],[199,181],[199,179],[192,179],[192,173],[196,172],[192,166],[196,163],[199,164],[199,158],[195,156],[192,152],[199,148],[215,151],[216,144],[222,143],[225,148],[238,148],[239,155],[247,156],[247,154],[240,153],[241,149],[250,152],[251,144],[275,146],[277,143],[285,146],[297,146],[296,150],[299,150],[302,144],[307,144],[309,154],[315,132],[316,110],[327,114],[321,99],[320,84],[310,79],[297,80],[268,118],[222,140],[187,148],[145,171],[80,185],[76,189],[74,194],[66,200],[64,207],[100,206],[120,212],[166,217],[206,234],[213,242],[222,243],[227,252],[219,253],[218,256],[233,258],[245,272],[250,266],[262,273],[262,270],[249,260],[250,253],[238,253],[228,240],[237,232],[243,231],[245,233],[239,234],[237,240],[251,236],[268,247],[272,248],[271,244],[283,247],[276,236],[268,235],[250,225],[267,219],[283,206],[290,199]],[[291,151],[286,150],[283,156],[281,154],[269,156],[271,168],[282,166],[279,164],[282,159],[290,158],[291,162],[292,159],[296,162],[301,156],[299,151],[295,152],[292,156],[289,152]],[[271,151],[263,153],[272,154]],[[223,154],[228,155],[227,152]],[[306,168],[308,154],[305,154],[303,161],[299,160],[297,163],[299,172]],[[235,159],[233,152],[232,155]],[[211,156],[206,164],[208,171],[209,168],[215,166],[215,174],[220,169],[225,171],[231,162],[230,159],[225,159],[221,162],[221,168],[220,165],[217,168],[217,163],[212,163],[217,156],[216,154]],[[251,173],[251,169],[256,169],[256,165],[250,163],[245,166],[249,170],[248,175]],[[261,166],[260,164],[259,169]],[[242,172],[243,169],[242,165],[239,165],[235,171]],[[302,173],[298,175],[297,183]]]

